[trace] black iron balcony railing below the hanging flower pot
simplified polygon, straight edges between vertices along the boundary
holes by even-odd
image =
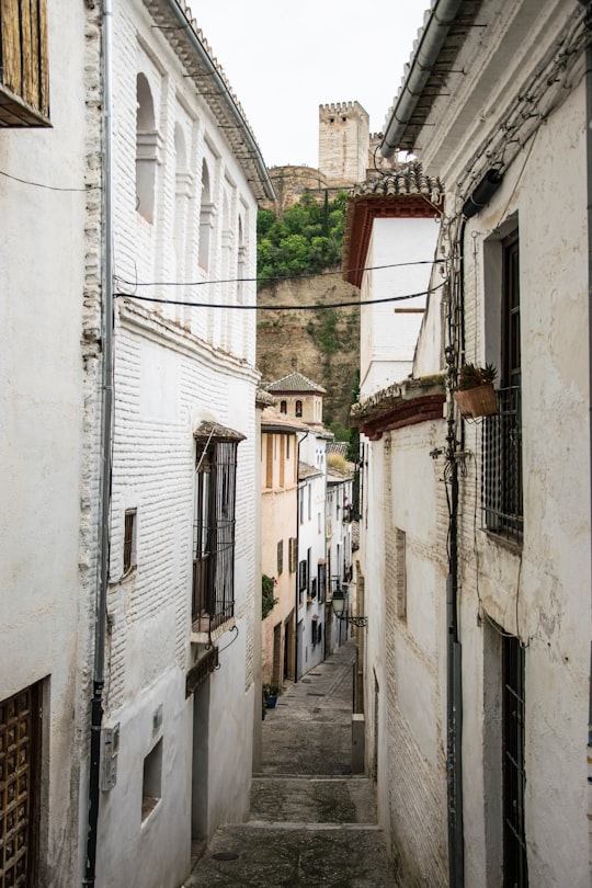
[[[522,543],[522,409],[520,387],[498,392],[499,410],[483,420],[483,526],[511,543]]]

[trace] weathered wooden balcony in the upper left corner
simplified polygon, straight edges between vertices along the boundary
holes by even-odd
[[[46,0],[2,0],[0,126],[49,126]]]

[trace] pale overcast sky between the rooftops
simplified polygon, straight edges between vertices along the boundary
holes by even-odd
[[[191,0],[267,167],[318,164],[319,105],[384,129],[429,0]]]

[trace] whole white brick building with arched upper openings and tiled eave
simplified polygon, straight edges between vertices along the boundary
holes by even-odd
[[[113,195],[96,883],[177,888],[192,843],[249,811],[261,578],[246,307],[258,200],[273,198],[238,100],[177,0],[114,8]]]

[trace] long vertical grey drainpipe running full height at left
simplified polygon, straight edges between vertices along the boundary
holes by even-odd
[[[112,8],[103,0],[102,78],[103,78],[103,223],[102,223],[102,429],[99,506],[99,567],[94,615],[94,668],[91,699],[90,767],[88,795],[87,859],[82,885],[95,881],[96,839],[100,798],[101,724],[103,720],[104,648],[106,629],[106,590],[109,582],[109,514],[111,503],[112,422],[113,422],[113,210],[112,210]]]

